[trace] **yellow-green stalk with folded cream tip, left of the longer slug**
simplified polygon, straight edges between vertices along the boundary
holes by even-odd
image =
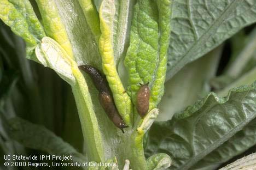
[[[82,126],[86,153],[89,161],[104,162],[102,134],[92,105],[91,95],[83,74],[77,63],[53,39],[45,37],[36,47],[40,60],[54,69],[63,80],[71,84]]]

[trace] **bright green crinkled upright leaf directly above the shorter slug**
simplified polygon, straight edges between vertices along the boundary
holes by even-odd
[[[164,94],[166,54],[169,43],[171,1],[138,1],[133,13],[130,47],[125,57],[129,93],[133,104],[139,83],[149,82],[150,108]]]

